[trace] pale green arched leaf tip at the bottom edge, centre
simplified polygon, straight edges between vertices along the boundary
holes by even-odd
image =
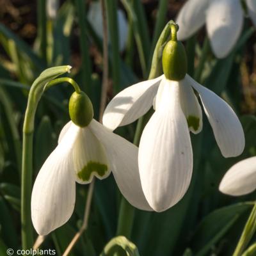
[[[126,237],[114,237],[105,246],[100,256],[140,256],[138,248],[131,243]]]

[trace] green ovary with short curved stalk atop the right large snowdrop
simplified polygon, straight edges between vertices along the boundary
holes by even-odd
[[[167,79],[180,81],[187,73],[188,64],[184,45],[177,40],[177,25],[171,25],[172,38],[164,46],[163,71]]]

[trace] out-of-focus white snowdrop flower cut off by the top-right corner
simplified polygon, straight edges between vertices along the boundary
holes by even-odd
[[[256,2],[246,0],[248,14],[256,26]],[[243,28],[243,6],[240,0],[188,0],[176,22],[179,40],[186,40],[206,24],[212,51],[224,58],[236,45]]]

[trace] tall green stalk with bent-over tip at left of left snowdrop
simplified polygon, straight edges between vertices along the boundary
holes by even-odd
[[[33,176],[33,132],[36,108],[44,92],[45,84],[65,72],[70,72],[69,66],[48,68],[35,80],[29,91],[28,106],[26,108],[23,124],[22,141],[21,236],[22,249],[24,250],[32,248],[33,246],[30,202]]]

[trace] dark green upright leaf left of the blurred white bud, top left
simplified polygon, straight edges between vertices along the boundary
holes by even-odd
[[[43,60],[47,61],[47,19],[46,19],[46,6],[45,0],[37,1],[37,26],[38,26],[38,37],[40,42],[40,55]]]

